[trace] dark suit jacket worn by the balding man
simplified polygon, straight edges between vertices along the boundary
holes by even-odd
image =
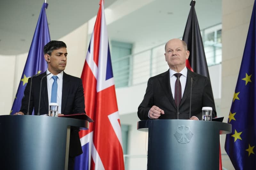
[[[202,107],[212,107],[212,117],[215,117],[216,109],[210,80],[188,70],[185,91],[179,105],[179,119],[189,119],[191,78],[193,79],[191,116],[196,116],[201,120]],[[148,79],[144,99],[138,108],[140,120],[149,119],[149,109],[154,105],[164,110],[164,115],[161,115],[159,119],[177,119],[177,107],[172,97],[169,70]]]

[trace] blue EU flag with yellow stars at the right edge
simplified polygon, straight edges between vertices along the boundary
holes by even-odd
[[[225,142],[225,150],[235,169],[239,170],[256,169],[255,15],[254,2],[243,59],[228,116],[228,123],[232,124],[232,133],[226,136]]]

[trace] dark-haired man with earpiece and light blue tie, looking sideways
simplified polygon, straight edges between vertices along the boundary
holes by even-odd
[[[48,114],[49,103],[59,104],[58,113],[60,115],[85,113],[84,89],[81,78],[68,75],[63,71],[67,64],[67,55],[67,46],[62,41],[50,41],[44,46],[44,59],[48,63],[48,68],[43,74],[32,80],[29,113],[32,113],[33,109],[35,113],[38,112],[40,82],[48,73],[51,74],[42,81],[40,115]],[[24,91],[20,112],[15,113],[15,115],[24,115],[28,111],[30,81],[31,78],[28,79]],[[57,87],[54,87],[53,84]],[[57,94],[52,92],[53,88],[56,88]],[[68,170],[74,169],[75,157],[82,154],[78,131],[79,128],[71,127]]]

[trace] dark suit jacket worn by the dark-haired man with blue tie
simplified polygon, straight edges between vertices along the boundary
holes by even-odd
[[[33,77],[31,86],[31,97],[29,105],[29,113],[31,114],[33,108],[35,114],[38,113],[39,107],[39,91],[40,82],[46,72],[39,76]],[[30,89],[31,78],[28,79],[27,86],[24,91],[24,97],[21,101],[20,111],[24,114],[28,111],[28,99]],[[84,110],[84,88],[82,85],[81,78],[70,76],[63,72],[62,82],[62,99],[61,99],[61,114],[75,114],[85,113]],[[41,101],[40,101],[40,115],[48,114],[49,112],[49,101],[48,101],[48,90],[47,90],[47,79],[46,77],[42,81]],[[74,157],[80,155],[82,152],[80,138],[78,135],[79,128],[71,127],[70,131],[70,144],[69,144],[69,155]]]

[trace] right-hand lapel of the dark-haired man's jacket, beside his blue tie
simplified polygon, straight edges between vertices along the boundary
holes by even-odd
[[[68,93],[70,87],[70,80],[67,74],[63,71],[63,80],[62,80],[62,97],[61,97],[61,113],[64,113],[65,106],[68,100]]]

